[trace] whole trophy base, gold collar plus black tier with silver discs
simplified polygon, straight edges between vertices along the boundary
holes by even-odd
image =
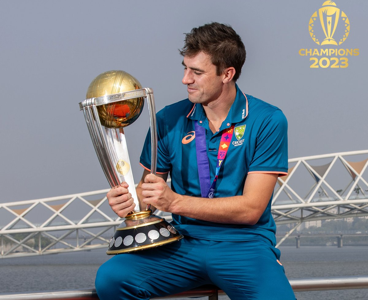
[[[158,247],[182,239],[183,236],[151,209],[132,212],[116,229],[106,254],[128,253]]]

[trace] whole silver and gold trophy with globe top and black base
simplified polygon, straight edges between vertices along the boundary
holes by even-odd
[[[125,141],[124,127],[138,119],[147,99],[151,126],[151,173],[156,174],[157,132],[153,91],[124,71],[107,71],[89,85],[83,110],[92,144],[112,188],[126,181],[135,203],[112,237],[107,254],[119,254],[161,246],[183,236],[164,218],[153,215],[150,205],[139,210],[139,201]]]

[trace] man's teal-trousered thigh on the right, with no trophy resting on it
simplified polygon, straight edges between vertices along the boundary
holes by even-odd
[[[295,300],[283,266],[278,262],[279,250],[270,243],[212,242],[206,269],[213,284],[230,299]]]

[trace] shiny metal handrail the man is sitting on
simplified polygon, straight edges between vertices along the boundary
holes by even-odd
[[[320,290],[368,289],[368,276],[294,278],[289,280],[294,292]],[[177,299],[185,297],[208,297],[217,299],[217,295],[225,295],[216,286],[206,285],[163,298]],[[54,290],[28,293],[0,293],[0,300],[99,300],[95,289]]]

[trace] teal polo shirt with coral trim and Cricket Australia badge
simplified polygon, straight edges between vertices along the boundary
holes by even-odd
[[[236,85],[236,98],[219,131],[212,133],[203,106],[185,99],[164,107],[157,116],[157,172],[170,173],[171,188],[181,195],[201,197],[194,123],[206,130],[211,182],[215,178],[217,152],[222,130],[234,125],[234,133],[222,163],[215,198],[243,194],[247,174],[277,173],[286,175],[287,120],[276,106],[245,95]],[[148,131],[142,150],[141,165],[151,167],[151,135]],[[173,225],[182,234],[215,241],[267,239],[276,243],[276,225],[271,215],[271,201],[255,225],[223,224],[172,214]],[[211,207],[208,207],[210,210]]]

